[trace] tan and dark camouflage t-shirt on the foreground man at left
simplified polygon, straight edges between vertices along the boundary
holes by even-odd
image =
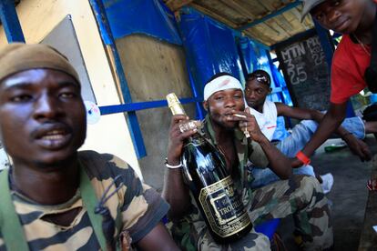
[[[127,230],[133,244],[146,236],[167,214],[168,203],[156,190],[143,184],[134,170],[123,160],[108,154],[100,155],[94,151],[79,152],[78,156],[97,198],[104,194],[108,186],[113,185],[116,176],[121,176],[116,183],[122,182],[124,185],[107,200],[106,206],[113,219],[117,218],[117,206],[120,206],[118,212],[122,219],[121,229]],[[115,189],[116,187],[112,186],[109,193]],[[30,250],[100,250],[79,189],[76,196],[63,205],[56,206],[38,205],[12,190],[12,183],[11,193]],[[70,226],[57,226],[44,220],[44,216],[64,213],[74,208],[80,211]],[[1,233],[0,250],[6,250]]]

